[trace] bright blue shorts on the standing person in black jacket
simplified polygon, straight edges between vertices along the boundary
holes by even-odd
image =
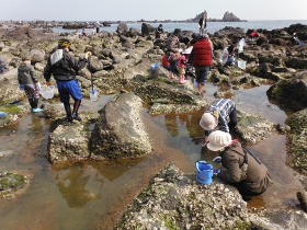
[[[82,99],[81,89],[76,79],[70,81],[57,81],[60,102],[69,103],[70,95],[75,101]]]

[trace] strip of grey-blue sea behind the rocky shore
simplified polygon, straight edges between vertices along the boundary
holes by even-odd
[[[275,30],[275,28],[284,28],[288,27],[292,24],[304,24],[307,25],[307,20],[258,20],[258,21],[247,21],[247,22],[207,22],[207,32],[209,34],[214,34],[215,32],[225,28],[226,26],[231,27],[240,27],[245,31],[252,28],[265,28],[269,31]],[[128,28],[141,28],[141,23],[126,23]],[[173,32],[175,28],[181,28],[181,31],[192,31],[192,32],[198,32],[198,24],[197,23],[148,23],[152,25],[154,27],[158,27],[159,24],[163,25],[163,28],[166,32]],[[118,24],[111,24],[111,26],[102,26],[101,31],[106,32],[115,32],[117,30]],[[55,33],[62,33],[68,32],[72,33],[78,31],[81,33],[81,30],[64,30],[62,27],[54,27],[53,31]],[[91,34],[92,30],[87,28],[86,33]]]

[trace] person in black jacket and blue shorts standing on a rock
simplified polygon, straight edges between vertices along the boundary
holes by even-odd
[[[57,49],[52,51],[44,69],[46,84],[50,84],[52,74],[57,82],[60,101],[64,103],[68,122],[72,122],[72,119],[81,120],[78,116],[78,110],[81,104],[82,93],[77,82],[76,74],[80,69],[86,67],[88,57],[91,56],[91,53],[88,51],[84,58],[77,60],[68,53],[70,46],[71,43],[69,39],[60,38]],[[75,101],[72,113],[69,103],[70,96]]]

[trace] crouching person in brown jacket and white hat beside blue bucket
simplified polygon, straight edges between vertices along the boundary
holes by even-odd
[[[208,149],[219,152],[221,168],[217,176],[238,188],[245,200],[264,193],[272,185],[266,166],[251,151],[232,140],[229,133],[213,131],[207,145]]]

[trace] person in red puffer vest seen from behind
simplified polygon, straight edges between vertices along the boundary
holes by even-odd
[[[194,44],[192,53],[193,67],[195,68],[197,95],[204,94],[205,81],[208,78],[208,71],[212,66],[213,49],[208,42],[208,35],[200,36],[200,39]]]

